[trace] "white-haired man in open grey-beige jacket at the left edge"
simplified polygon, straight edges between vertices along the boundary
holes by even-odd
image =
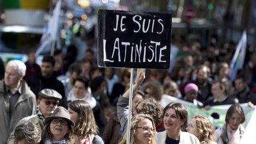
[[[7,142],[18,121],[36,111],[36,96],[23,80],[25,71],[23,62],[10,60],[0,81],[0,144]]]

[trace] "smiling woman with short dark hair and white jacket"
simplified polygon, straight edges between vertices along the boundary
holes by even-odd
[[[164,108],[164,128],[163,132],[156,134],[158,144],[196,144],[199,139],[191,133],[184,132],[187,127],[188,112],[184,105],[180,103],[169,103]]]

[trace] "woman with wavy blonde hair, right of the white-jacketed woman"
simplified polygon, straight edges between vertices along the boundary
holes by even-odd
[[[186,130],[196,136],[202,144],[216,144],[214,142],[214,127],[210,120],[204,116],[194,116]]]

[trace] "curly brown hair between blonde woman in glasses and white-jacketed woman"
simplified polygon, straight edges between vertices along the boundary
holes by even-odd
[[[148,114],[153,117],[154,123],[157,126],[162,122],[162,107],[154,98],[146,98],[145,100],[139,101],[137,105],[142,104],[141,114]]]

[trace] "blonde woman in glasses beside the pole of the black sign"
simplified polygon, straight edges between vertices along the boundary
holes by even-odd
[[[155,124],[151,116],[147,114],[137,114],[132,117],[130,126],[130,144],[155,144]],[[119,144],[126,144],[127,131]]]

